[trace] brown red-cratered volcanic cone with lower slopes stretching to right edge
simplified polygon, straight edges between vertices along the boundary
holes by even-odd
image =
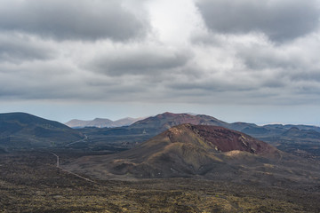
[[[182,124],[119,154],[85,156],[63,166],[108,179],[193,177],[259,185],[318,185],[312,164],[244,133]]]

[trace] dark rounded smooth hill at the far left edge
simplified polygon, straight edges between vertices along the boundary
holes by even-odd
[[[32,114],[0,114],[0,148],[60,146],[84,138],[82,133]]]

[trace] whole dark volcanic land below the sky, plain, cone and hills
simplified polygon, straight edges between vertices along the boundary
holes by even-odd
[[[0,124],[0,212],[320,209],[317,127],[171,113],[116,128],[31,114]]]

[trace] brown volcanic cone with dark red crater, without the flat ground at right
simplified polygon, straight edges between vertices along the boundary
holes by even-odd
[[[235,130],[182,124],[131,150],[87,156],[67,167],[99,178],[110,175],[227,178],[239,174],[250,177],[252,170],[261,174],[278,170],[270,163],[281,161],[283,156],[275,147]]]

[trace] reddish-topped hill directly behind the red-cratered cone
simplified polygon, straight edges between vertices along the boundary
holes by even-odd
[[[182,123],[217,126],[228,124],[208,115],[164,113],[134,122],[128,127],[84,128],[79,130],[91,139],[87,146],[94,146],[99,149],[109,146],[130,148]]]

